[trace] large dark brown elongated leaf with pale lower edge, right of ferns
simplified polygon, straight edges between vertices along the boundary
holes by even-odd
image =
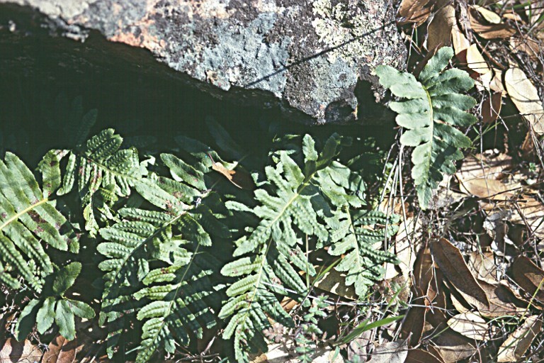
[[[448,281],[455,286],[455,289],[467,303],[476,307],[487,306],[489,308],[485,291],[470,273],[459,249],[446,238],[434,240],[430,247],[434,262],[438,264],[444,277],[448,278]]]

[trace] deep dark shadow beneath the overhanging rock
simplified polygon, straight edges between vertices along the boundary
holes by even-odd
[[[84,43],[52,36],[56,28],[38,27],[43,19],[28,9],[0,7],[10,8],[0,11],[0,152],[16,152],[30,165],[51,148],[73,146],[71,140],[63,140],[63,130],[47,125],[60,92],[69,100],[81,95],[84,111],[98,108],[91,135],[103,128],[115,128],[123,137],[152,135],[157,143],[147,148],[157,151],[171,150],[176,135],[208,140],[204,121],[210,116],[247,150],[268,150],[271,136],[305,130],[363,139],[376,136],[382,147],[391,143],[392,123],[310,129],[284,122],[278,107],[247,106],[250,99],[232,102],[222,99],[224,91],[215,89],[210,96],[196,89],[188,76],[157,63],[147,50],[108,42],[94,32]],[[361,104],[378,116],[383,107],[375,104],[370,92],[370,82],[361,82],[358,94],[365,99]]]

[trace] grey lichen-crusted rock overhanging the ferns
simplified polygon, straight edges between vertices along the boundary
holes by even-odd
[[[56,34],[84,42],[98,30],[149,50],[183,82],[305,123],[364,118],[375,100],[357,87],[375,84],[375,66],[406,60],[387,0],[0,0],[4,20],[15,6]]]

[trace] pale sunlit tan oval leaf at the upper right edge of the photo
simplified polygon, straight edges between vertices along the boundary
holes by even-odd
[[[544,108],[533,82],[519,68],[510,68],[504,74],[504,84],[519,113],[538,135],[544,134]]]

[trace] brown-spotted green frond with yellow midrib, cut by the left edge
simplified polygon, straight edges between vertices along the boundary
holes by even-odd
[[[51,167],[43,166],[45,174],[52,174]],[[72,225],[48,197],[28,167],[6,152],[0,160],[0,281],[13,289],[23,277],[36,292],[42,290],[44,277],[53,272],[42,242],[57,250],[79,250]]]

